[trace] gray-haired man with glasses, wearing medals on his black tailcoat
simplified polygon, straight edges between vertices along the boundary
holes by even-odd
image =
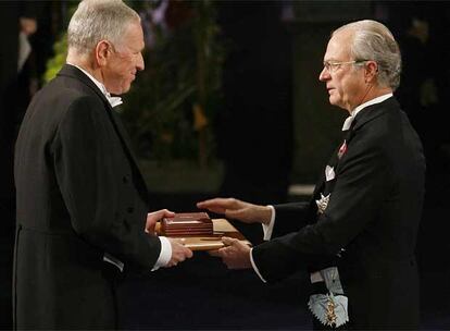
[[[305,204],[259,206],[234,198],[198,204],[262,223],[266,243],[233,238],[217,252],[264,282],[308,270],[314,329],[418,328],[414,247],[424,197],[422,144],[392,96],[399,47],[383,24],[359,21],[332,35],[318,76],[349,112],[345,139]],[[272,238],[274,237],[274,238]]]

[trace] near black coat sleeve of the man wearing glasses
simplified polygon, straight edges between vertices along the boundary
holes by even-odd
[[[267,281],[286,278],[323,256],[336,256],[376,220],[392,183],[388,160],[376,142],[359,140],[351,147],[317,222],[253,248],[253,260]]]

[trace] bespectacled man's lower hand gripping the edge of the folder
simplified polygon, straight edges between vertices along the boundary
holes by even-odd
[[[226,247],[211,252],[212,256],[218,256],[228,269],[249,269],[252,268],[250,261],[250,247],[241,241],[222,237]]]

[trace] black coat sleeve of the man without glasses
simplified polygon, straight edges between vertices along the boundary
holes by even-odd
[[[117,151],[121,146],[109,121],[103,105],[93,97],[72,103],[53,139],[57,182],[72,228],[80,237],[126,267],[150,270],[161,243],[145,233],[146,214],[124,210],[123,200],[130,197],[124,196],[126,176],[120,164],[128,161]]]

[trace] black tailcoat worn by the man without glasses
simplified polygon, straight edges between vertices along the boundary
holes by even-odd
[[[15,327],[114,328],[104,253],[150,272],[161,250],[143,231],[147,188],[117,114],[65,65],[29,105],[15,151]]]

